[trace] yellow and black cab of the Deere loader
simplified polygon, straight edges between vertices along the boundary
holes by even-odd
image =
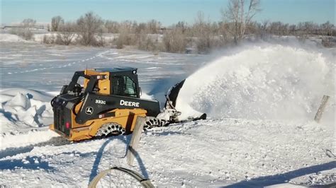
[[[82,85],[79,83],[81,77],[84,78]],[[62,88],[61,94],[82,95],[88,92],[140,98],[137,69],[122,67],[76,71],[69,85]]]

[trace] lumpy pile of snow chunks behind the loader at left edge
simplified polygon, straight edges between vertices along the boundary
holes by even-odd
[[[1,91],[0,133],[51,124],[51,98],[47,93],[22,88]]]

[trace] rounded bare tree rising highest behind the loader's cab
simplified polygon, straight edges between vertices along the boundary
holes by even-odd
[[[85,13],[77,20],[79,35],[82,37],[83,45],[96,45],[94,35],[99,32],[103,20],[93,12]]]

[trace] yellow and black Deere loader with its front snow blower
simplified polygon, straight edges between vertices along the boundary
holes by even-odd
[[[83,86],[79,78],[84,78]],[[184,81],[169,90],[165,108],[159,101],[140,98],[137,69],[124,67],[76,71],[69,85],[52,99],[54,124],[50,129],[70,141],[130,134],[138,116],[144,129],[179,122],[176,104]],[[206,114],[191,120],[206,119]]]

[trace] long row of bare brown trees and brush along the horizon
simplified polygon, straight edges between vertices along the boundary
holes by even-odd
[[[43,42],[70,45],[114,45],[123,48],[133,45],[138,49],[189,52],[197,49],[198,53],[209,52],[213,48],[236,45],[250,36],[265,38],[270,35],[294,35],[305,38],[308,35],[336,36],[335,26],[329,22],[316,24],[303,22],[297,25],[288,23],[253,21],[254,16],[261,11],[259,0],[230,0],[228,7],[222,8],[222,20],[211,22],[203,13],[197,13],[193,24],[180,21],[168,28],[162,27],[157,20],[147,23],[137,23],[126,20],[116,22],[103,20],[98,15],[89,12],[74,22],[65,22],[61,16],[51,20],[51,30],[57,36],[47,37]],[[35,20],[23,21],[25,27],[31,27]],[[116,33],[113,40],[106,40],[104,33]]]

